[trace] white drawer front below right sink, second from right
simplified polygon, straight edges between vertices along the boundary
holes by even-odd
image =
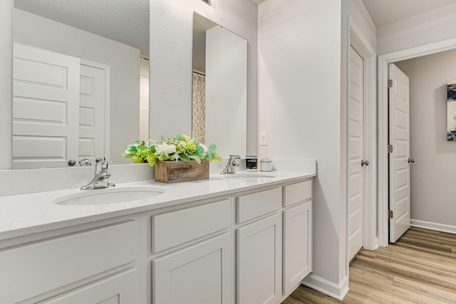
[[[236,199],[237,223],[269,214],[281,207],[281,187],[238,196]]]

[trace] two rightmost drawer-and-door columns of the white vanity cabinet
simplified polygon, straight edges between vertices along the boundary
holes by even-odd
[[[311,199],[311,179],[237,196],[237,304],[280,303],[311,273]]]

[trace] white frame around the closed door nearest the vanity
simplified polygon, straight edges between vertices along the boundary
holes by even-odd
[[[346,100],[349,100],[349,51],[352,46],[355,51],[363,58],[363,150],[364,159],[368,159],[369,166],[366,167],[363,179],[363,248],[368,250],[374,250],[377,248],[376,231],[377,227],[375,221],[369,221],[368,219],[375,219],[377,214],[376,203],[376,183],[377,183],[377,142],[375,140],[377,133],[377,123],[375,116],[376,109],[376,53],[375,50],[368,43],[368,39],[363,37],[362,31],[359,31],[355,24],[348,21],[348,50],[347,50],[347,88],[346,88]],[[346,105],[346,155],[348,155],[348,102]],[[348,157],[346,158],[346,166],[348,167]],[[346,170],[346,181],[348,181],[348,170]],[[348,187],[348,182],[346,183]],[[346,235],[348,236],[348,189],[346,190]],[[348,257],[348,237],[346,238],[346,257]],[[347,258],[348,260],[348,258]],[[348,261],[346,261],[346,267],[348,269]]]

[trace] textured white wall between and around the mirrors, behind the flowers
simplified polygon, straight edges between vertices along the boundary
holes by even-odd
[[[257,4],[150,1],[150,138],[192,134],[193,12],[247,39],[247,153],[257,153]],[[236,123],[233,118],[233,123]],[[214,142],[217,144],[217,142]]]

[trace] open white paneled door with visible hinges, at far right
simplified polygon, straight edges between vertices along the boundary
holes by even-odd
[[[410,228],[410,97],[409,80],[397,66],[389,65],[390,242]]]

